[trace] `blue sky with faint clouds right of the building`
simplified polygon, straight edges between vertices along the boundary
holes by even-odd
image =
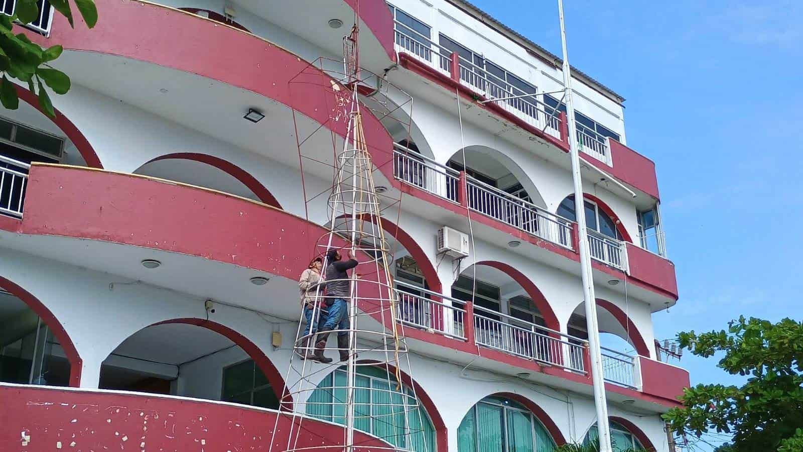
[[[560,55],[556,0],[472,0]],[[655,335],[803,319],[803,2],[565,0],[569,60],[626,98],[680,300]],[[692,384],[738,383],[684,355]],[[699,444],[698,450],[710,450]]]

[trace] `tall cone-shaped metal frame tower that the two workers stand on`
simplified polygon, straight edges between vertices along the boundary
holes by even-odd
[[[344,38],[343,73],[337,76],[340,86],[332,83],[326,87],[334,87],[340,94],[340,101],[332,110],[332,121],[347,124],[344,137],[332,140],[339,149],[332,160],[328,232],[320,236],[315,253],[323,259],[322,274],[331,263],[328,252],[333,249],[339,251],[342,261],[347,261],[350,254],[359,263],[357,268],[349,270],[345,280],[349,282],[348,327],[340,323],[340,328],[336,326],[336,331],[328,335],[323,355],[332,362],[326,362],[320,360],[320,347],[326,336],[304,335],[302,313],[285,379],[288,393],[281,402],[283,411],[293,417],[292,431],[286,445],[277,449],[275,442],[271,442],[271,450],[301,450],[296,444],[306,429],[304,420],[309,417],[343,425],[342,442],[321,444],[316,450],[364,450],[360,445],[366,437],[361,432],[383,439],[388,450],[428,450],[434,441],[424,433],[426,414],[418,405],[412,384],[401,322],[403,316],[413,315],[410,310],[414,306],[399,304],[389,269],[393,250],[381,224],[383,210],[397,206],[398,201],[377,193],[373,177],[376,163],[369,154],[363,129],[361,109],[368,107],[361,105],[360,96],[367,92],[373,97],[381,84],[374,80],[373,91],[366,86],[365,72],[358,64],[359,21],[355,23],[350,35]],[[377,98],[368,103],[373,108],[385,105]],[[304,158],[302,154],[300,146],[300,158]],[[332,282],[336,280],[325,281]],[[313,319],[334,302],[331,294],[321,292],[315,297]],[[339,340],[336,335],[341,336]],[[316,343],[318,356],[313,358]],[[377,447],[372,446],[371,450]]]

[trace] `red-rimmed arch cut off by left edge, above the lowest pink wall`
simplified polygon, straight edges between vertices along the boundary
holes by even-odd
[[[81,359],[59,320],[22,287],[0,277],[0,381],[78,386]]]

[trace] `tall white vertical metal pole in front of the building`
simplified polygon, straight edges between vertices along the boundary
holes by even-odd
[[[610,426],[608,423],[608,406],[605,401],[605,380],[602,374],[602,354],[599,343],[599,325],[597,324],[597,298],[594,295],[594,280],[591,273],[591,256],[589,254],[589,236],[585,226],[585,206],[583,198],[583,181],[580,175],[580,154],[577,150],[577,124],[574,117],[572,100],[572,68],[569,65],[569,52],[566,49],[566,27],[563,18],[563,0],[557,1],[560,16],[560,42],[563,46],[563,83],[565,85],[566,121],[569,123],[569,155],[572,158],[572,178],[574,180],[574,211],[577,216],[578,248],[580,249],[580,265],[583,279],[583,297],[585,298],[585,321],[589,330],[589,354],[591,355],[591,380],[594,389],[594,405],[597,408],[597,431],[599,433],[600,452],[612,452],[610,444]]]

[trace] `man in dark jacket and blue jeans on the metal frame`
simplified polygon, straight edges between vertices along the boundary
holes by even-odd
[[[324,347],[329,338],[329,332],[337,331],[337,348],[340,351],[340,361],[349,360],[349,298],[351,297],[351,280],[349,270],[357,267],[357,260],[347,253],[349,260],[340,261],[340,251],[330,249],[326,253],[326,304],[329,314],[324,326],[320,328],[318,342],[315,344],[313,360],[325,362]]]

